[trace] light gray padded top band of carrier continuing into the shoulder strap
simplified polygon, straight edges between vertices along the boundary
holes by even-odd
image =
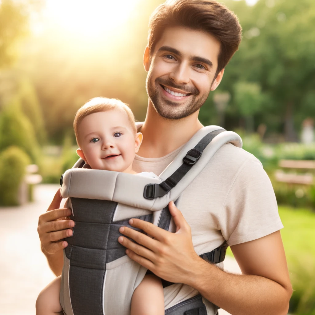
[[[242,146],[241,138],[232,131],[224,131],[217,135],[214,140],[204,149],[201,157],[192,169],[184,176],[168,194],[155,200],[145,199],[143,191],[146,184],[160,183],[166,180],[182,164],[186,153],[193,148],[206,134],[211,131],[222,129],[218,126],[207,126],[198,130],[189,140],[172,163],[162,172],[159,178],[147,178],[132,174],[97,169],[70,169],[63,176],[61,195],[66,197],[78,197],[100,200],[112,200],[124,203],[132,207],[160,210],[166,207],[171,200],[176,200],[181,192],[196,178],[202,169],[211,163],[209,160],[215,152],[225,143]]]

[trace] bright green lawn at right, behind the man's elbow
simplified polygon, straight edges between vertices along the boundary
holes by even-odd
[[[281,236],[295,290],[290,312],[315,315],[315,212],[279,206]],[[232,256],[231,249],[227,254]]]

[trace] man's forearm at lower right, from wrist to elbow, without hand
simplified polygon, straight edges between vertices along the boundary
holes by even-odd
[[[284,315],[288,312],[290,288],[255,275],[224,272],[200,259],[190,286],[207,300],[233,315]]]

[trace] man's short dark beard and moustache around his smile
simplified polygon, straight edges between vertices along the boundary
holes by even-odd
[[[152,84],[151,82],[151,73],[149,72],[146,78],[146,92],[156,112],[160,116],[167,119],[181,119],[198,111],[198,109],[207,100],[210,93],[209,88],[209,91],[207,93],[199,95],[200,92],[195,87],[177,85],[170,80],[165,80],[160,77],[155,79],[154,84]],[[160,84],[162,84],[163,86],[168,86],[170,89],[180,89],[182,91],[185,91],[186,93],[191,93],[192,95],[189,96],[189,100],[187,100],[186,103],[178,103],[167,100],[165,98],[162,98],[162,96],[160,95],[161,92],[158,90]]]

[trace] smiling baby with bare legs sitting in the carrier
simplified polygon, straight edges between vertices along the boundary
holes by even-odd
[[[77,154],[92,169],[138,174],[132,169],[142,134],[137,133],[130,108],[120,100],[96,97],[76,113],[73,123]],[[153,173],[141,175],[155,177]],[[54,279],[38,295],[36,314],[63,314],[60,305],[60,277]],[[131,315],[164,314],[164,295],[161,280],[146,275],[131,299]]]

